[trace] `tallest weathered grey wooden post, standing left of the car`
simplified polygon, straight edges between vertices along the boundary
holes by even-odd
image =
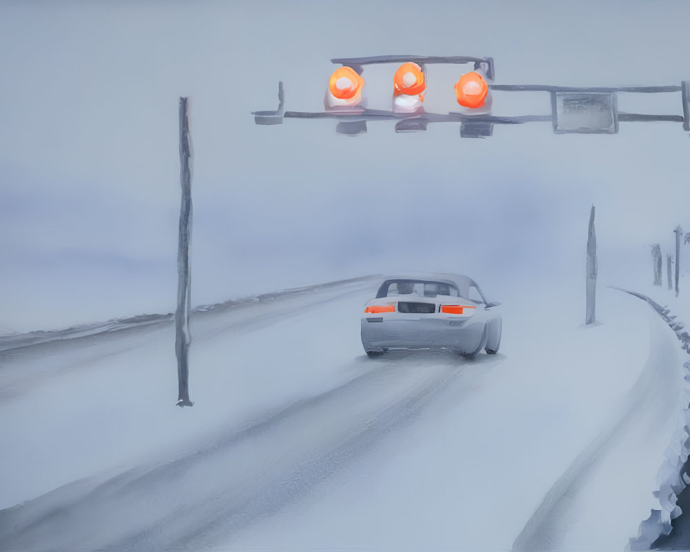
[[[182,199],[179,208],[179,241],[177,248],[177,311],[175,311],[175,356],[177,356],[177,406],[193,406],[189,400],[188,352],[191,279],[189,246],[192,238],[192,147],[189,137],[188,98],[179,99],[179,183]]]

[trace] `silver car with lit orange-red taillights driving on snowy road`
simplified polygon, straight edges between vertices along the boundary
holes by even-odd
[[[389,349],[444,348],[473,357],[495,355],[501,315],[473,279],[458,274],[386,276],[362,315],[368,357]]]

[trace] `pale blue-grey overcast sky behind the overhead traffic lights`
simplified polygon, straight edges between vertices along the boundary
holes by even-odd
[[[690,79],[689,3],[603,4],[2,1],[0,332],[174,310],[180,96],[195,304],[399,269],[467,273],[492,297],[528,270],[580,277],[591,204],[602,270],[647,263],[653,242],[669,253],[673,227],[690,230],[680,124],[473,140],[455,124],[344,137],[250,115],[275,109],[279,80],[286,108],[321,110],[333,57],[492,56],[496,83]],[[371,107],[389,107],[394,71],[365,70]],[[461,72],[429,67],[428,110],[455,108]],[[679,93],[651,96],[620,95],[620,110],[682,114]],[[545,94],[495,92],[493,106],[550,110]]]

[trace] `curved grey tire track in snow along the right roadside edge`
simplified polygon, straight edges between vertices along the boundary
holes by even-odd
[[[665,420],[672,414],[671,407],[667,407],[669,412],[666,412],[659,411],[657,406],[658,420],[650,422],[646,416],[652,405],[664,404],[668,388],[678,385],[676,346],[667,335],[665,326],[655,317],[652,320],[649,356],[640,377],[624,399],[620,416],[586,446],[551,486],[513,542],[513,551],[551,552],[562,549],[579,491],[602,461],[635,425],[644,420],[651,424],[660,423],[661,418]],[[625,542],[622,542],[621,548],[624,546]]]

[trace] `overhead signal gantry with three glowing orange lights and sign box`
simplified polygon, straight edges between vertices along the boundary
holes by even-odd
[[[619,122],[669,121],[682,123],[683,130],[690,130],[690,81],[680,86],[618,86],[582,87],[551,86],[544,84],[494,84],[495,70],[491,57],[466,56],[413,56],[385,55],[331,59],[339,63],[330,79],[324,97],[325,110],[319,112],[284,110],[282,83],[278,83],[278,108],[270,111],[253,111],[258,125],[279,125],[283,119],[335,119],[336,132],[344,135],[361,135],[366,132],[368,121],[393,121],[395,132],[426,130],[431,123],[459,123],[460,136],[484,138],[493,135],[495,125],[522,125],[548,122],[555,134],[615,134]],[[364,79],[365,67],[380,63],[399,65],[393,78],[393,108],[366,106]],[[402,63],[402,65],[400,65]],[[473,70],[460,75],[455,85],[449,83],[446,92],[437,97],[451,103],[455,92],[456,108],[450,112],[428,112],[424,109],[426,68],[431,64],[473,63]],[[377,90],[379,90],[377,88]],[[549,95],[551,112],[541,115],[493,115],[493,92],[540,92]],[[659,115],[618,111],[618,94],[637,92],[680,92],[682,115]],[[429,108],[429,106],[426,106]]]

